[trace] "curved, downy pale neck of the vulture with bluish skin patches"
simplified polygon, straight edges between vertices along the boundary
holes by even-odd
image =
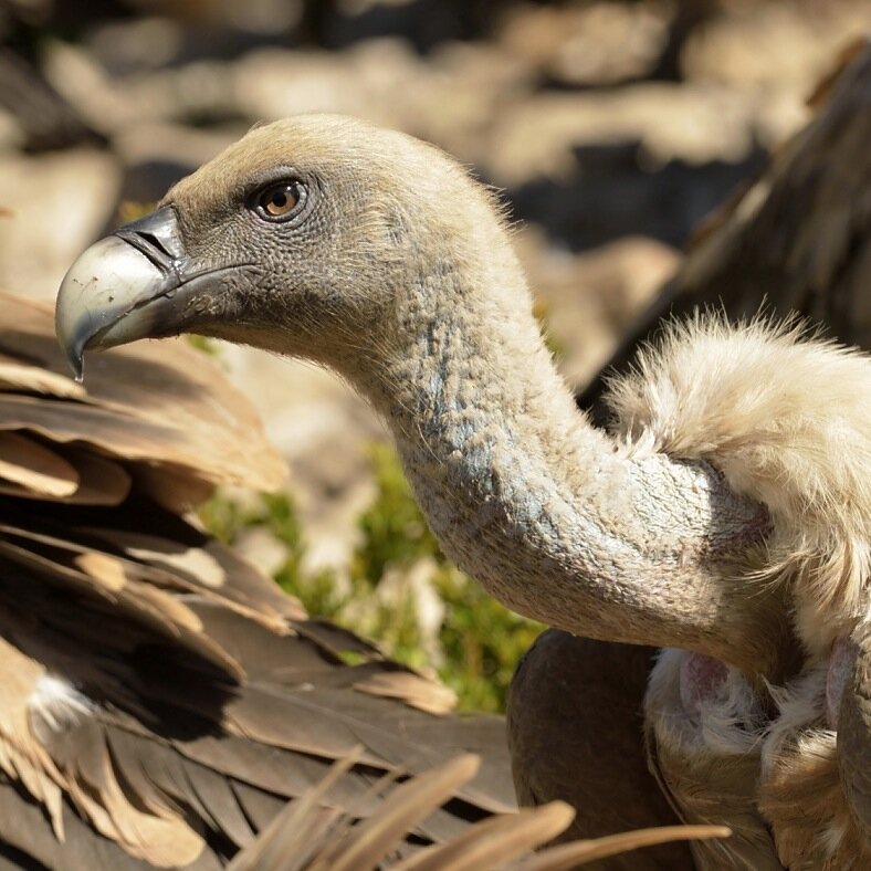
[[[407,340],[359,384],[445,553],[559,629],[776,672],[780,609],[735,558],[766,516],[704,463],[621,455],[556,371],[508,245],[484,250],[401,295],[391,340]]]

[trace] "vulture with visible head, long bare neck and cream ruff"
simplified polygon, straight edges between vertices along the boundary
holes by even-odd
[[[697,868],[871,863],[867,355],[800,323],[695,317],[612,384],[598,429],[492,193],[432,146],[324,115],[254,128],[88,249],[56,332],[80,377],[85,349],[181,333],[329,367],[493,596],[663,649],[640,727],[653,778],[599,805],[655,783],[665,804],[627,812],[728,825],[692,844]]]

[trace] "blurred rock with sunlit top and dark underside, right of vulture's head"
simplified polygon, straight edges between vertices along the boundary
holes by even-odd
[[[764,165],[765,153],[741,124],[748,118],[737,107],[741,122],[720,126],[700,95],[662,91],[660,123],[646,109],[633,115],[632,102],[643,103],[640,94],[622,101],[623,115],[598,95],[592,104],[574,97],[529,101],[528,113],[506,114],[502,136],[491,134],[481,156],[484,177],[507,187],[516,218],[539,223],[574,250],[625,235],[681,246],[710,210]],[[681,128],[691,134],[683,141]]]

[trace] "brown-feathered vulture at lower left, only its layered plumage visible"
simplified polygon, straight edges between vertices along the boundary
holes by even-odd
[[[506,812],[501,717],[451,714],[185,513],[284,475],[201,353],[122,348],[85,388],[52,312],[0,294],[0,868],[520,869],[568,825],[558,801]]]

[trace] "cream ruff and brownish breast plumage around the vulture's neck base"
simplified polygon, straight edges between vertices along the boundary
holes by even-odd
[[[699,867],[871,858],[838,776],[851,763],[836,731],[849,671],[837,651],[869,612],[871,357],[796,321],[699,316],[667,327],[610,401],[630,451],[706,460],[767,507],[773,532],[747,584],[786,585],[805,648],[786,685],[754,689],[724,667],[697,704],[684,685],[697,653],[663,651],[653,670],[646,713],[663,788],[686,820],[734,806],[730,842],[693,846]]]

